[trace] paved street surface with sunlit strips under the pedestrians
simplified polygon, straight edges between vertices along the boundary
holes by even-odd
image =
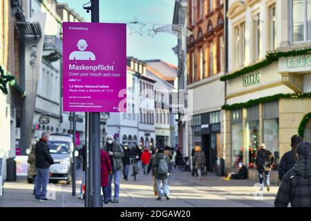
[[[77,195],[81,183],[82,171],[78,172]],[[131,174],[131,171],[130,171]],[[263,192],[263,198],[254,198],[254,182],[249,180],[220,180],[220,177],[209,174],[198,181],[189,172],[173,171],[170,181],[171,200],[156,200],[151,186],[151,175],[141,172],[134,181],[121,180],[120,202],[105,204],[105,207],[271,207],[278,186],[271,186],[270,192]],[[17,182],[5,182],[4,195],[0,206],[52,206],[52,207],[82,207],[84,200],[71,195],[71,185],[56,184],[56,200],[53,202],[36,202],[32,195],[33,185],[26,179],[19,178]]]

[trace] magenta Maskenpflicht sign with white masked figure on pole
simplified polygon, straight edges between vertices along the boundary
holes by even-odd
[[[126,24],[63,23],[64,111],[126,112]]]

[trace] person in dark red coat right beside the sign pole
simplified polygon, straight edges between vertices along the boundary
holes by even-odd
[[[112,173],[112,166],[108,153],[103,149],[100,150],[100,165],[100,184],[104,193],[104,203],[108,204],[108,179]]]

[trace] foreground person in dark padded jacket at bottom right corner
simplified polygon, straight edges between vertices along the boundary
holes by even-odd
[[[300,142],[297,146],[298,160],[283,176],[274,206],[311,207],[311,144]]]

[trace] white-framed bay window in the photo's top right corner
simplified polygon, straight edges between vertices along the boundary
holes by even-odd
[[[311,40],[311,1],[292,0],[292,41]]]

